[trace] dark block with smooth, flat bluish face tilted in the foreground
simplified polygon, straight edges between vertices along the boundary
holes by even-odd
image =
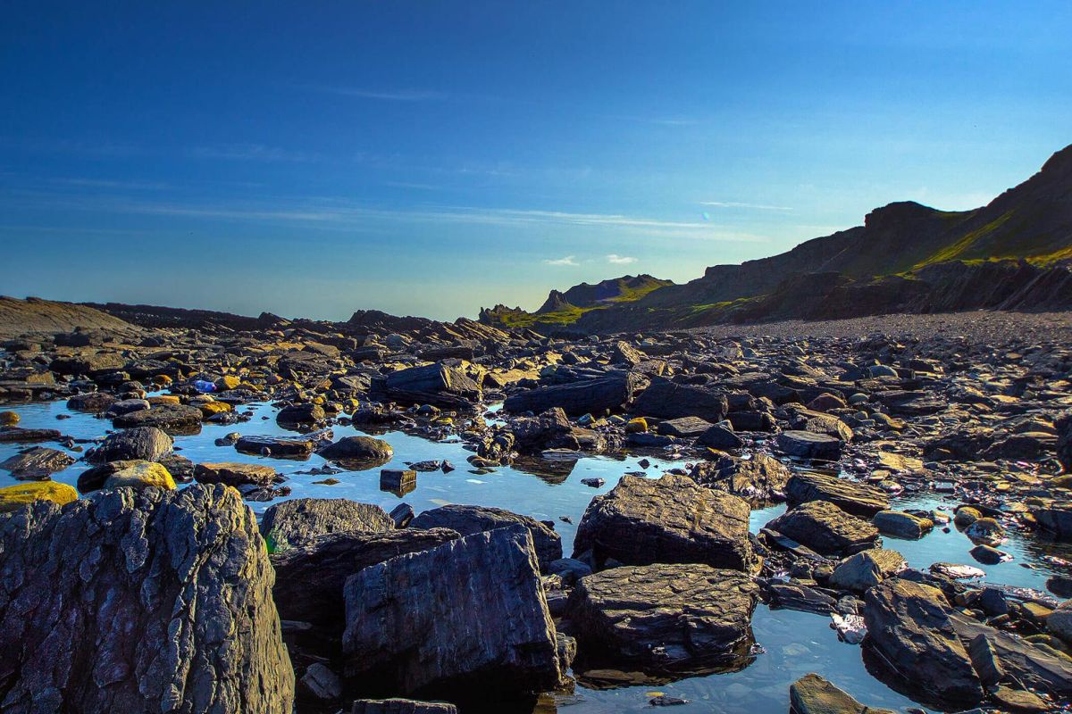
[[[434,696],[479,682],[483,697],[560,683],[554,623],[521,526],[372,565],[344,596],[347,675],[369,686]]]

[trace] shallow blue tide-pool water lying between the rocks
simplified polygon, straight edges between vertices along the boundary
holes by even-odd
[[[8,408],[19,413],[21,427],[56,428],[76,439],[100,438],[110,428],[109,422],[70,411],[62,401],[5,407]],[[477,475],[470,472],[465,458],[471,452],[465,451],[460,442],[432,442],[401,431],[391,431],[377,435],[394,450],[394,458],[389,464],[367,471],[344,471],[333,474],[333,477],[340,481],[339,484],[318,485],[313,482],[327,476],[298,472],[326,466],[319,456],[313,455],[300,461],[271,459],[241,454],[233,446],[217,446],[213,443],[217,438],[233,431],[243,435],[293,434],[277,425],[274,410],[270,406],[250,405],[243,409],[254,411],[251,421],[226,426],[207,424],[196,436],[179,436],[175,443],[177,453],[195,462],[242,461],[270,465],[287,477],[286,485],[293,489],[291,498],[347,498],[375,503],[387,511],[405,501],[418,513],[446,503],[470,503],[500,506],[535,518],[554,520],[556,530],[562,534],[563,548],[567,556],[571,550],[577,523],[580,522],[585,507],[594,496],[610,490],[623,473],[643,470],[638,464],[643,457],[651,461],[646,472],[652,476],[658,476],[664,470],[683,464],[682,460],[659,458],[651,454],[626,457],[597,456],[578,459],[571,469],[568,462],[566,465],[560,462],[556,468],[548,472],[539,469],[541,475],[527,473],[523,467],[504,467],[493,473]],[[71,419],[57,420],[59,414],[69,414]],[[337,439],[363,434],[353,427],[333,428]],[[62,449],[55,443],[46,442],[41,445]],[[0,460],[25,447],[26,444],[0,444]],[[78,456],[78,454],[72,455]],[[448,474],[418,473],[417,488],[402,498],[379,489],[381,468],[404,468],[406,461],[428,459],[447,459],[457,470]],[[79,461],[54,474],[53,478],[74,485],[78,474],[86,468],[87,465]],[[593,476],[605,478],[606,484],[599,488],[581,484],[581,478]],[[0,486],[15,483],[19,482],[8,472],[0,472]],[[895,503],[895,507],[944,506],[950,513],[956,504],[954,501],[943,501],[935,497],[899,499]],[[260,514],[271,503],[250,503],[250,505],[254,512]],[[753,531],[757,531],[784,511],[785,506],[753,511]],[[563,520],[563,517],[568,520]],[[925,569],[936,561],[967,563],[982,568],[986,573],[988,582],[1038,590],[1044,589],[1045,579],[1051,574],[1068,574],[1070,569],[1055,562],[1045,561],[1045,556],[1056,555],[1072,560],[1072,547],[1068,545],[1055,546],[1029,535],[1013,533],[1002,549],[1013,555],[1014,559],[997,565],[984,565],[977,563],[968,555],[968,550],[972,547],[971,542],[952,527],[949,533],[936,528],[920,541],[885,537],[884,544],[885,547],[904,555],[913,567]],[[694,677],[659,686],[590,689],[578,685],[572,696],[545,697],[539,711],[554,711],[555,707],[577,714],[651,711],[649,696],[658,692],[690,700],[690,703],[673,710],[682,714],[701,711],[784,714],[789,707],[789,685],[808,672],[823,674],[861,702],[872,707],[893,710],[904,710],[909,705],[919,707],[868,674],[859,645],[838,641],[829,623],[827,617],[791,610],[771,610],[760,605],[753,620],[753,632],[760,649],[753,663],[741,671]]]

